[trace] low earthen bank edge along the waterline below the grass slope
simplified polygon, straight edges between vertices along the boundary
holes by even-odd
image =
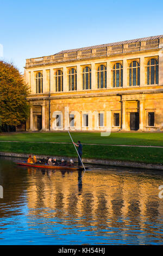
[[[0,156],[9,156],[9,157],[18,157],[21,159],[27,159],[28,154],[22,153],[4,153],[0,152]],[[36,155],[37,159],[44,159],[47,155]],[[59,161],[61,161],[62,157],[56,156]],[[65,160],[70,160],[70,157],[64,157]],[[74,162],[78,162],[77,157],[73,157]],[[136,163],[136,162],[128,162],[128,161],[113,161],[113,160],[99,160],[99,159],[83,159],[83,163],[89,164],[98,164],[103,166],[116,166],[116,167],[130,167],[130,168],[140,168],[140,169],[153,169],[153,170],[163,170],[163,166],[161,164],[147,164],[147,163]]]

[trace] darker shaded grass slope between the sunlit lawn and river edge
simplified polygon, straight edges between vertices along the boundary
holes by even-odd
[[[0,142],[0,151],[47,156],[77,157],[77,153],[72,144]],[[163,163],[163,148],[83,145],[83,158],[139,163]]]

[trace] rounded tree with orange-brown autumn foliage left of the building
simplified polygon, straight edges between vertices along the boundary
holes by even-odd
[[[1,124],[20,125],[29,116],[28,86],[14,65],[0,61]]]

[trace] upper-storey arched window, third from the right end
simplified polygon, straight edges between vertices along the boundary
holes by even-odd
[[[112,70],[112,86],[122,87],[123,86],[123,68],[121,63],[116,63]]]

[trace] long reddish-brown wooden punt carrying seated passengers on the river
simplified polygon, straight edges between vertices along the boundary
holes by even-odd
[[[17,162],[14,161],[20,166],[28,166],[28,167],[36,167],[36,168],[46,168],[46,169],[70,169],[70,170],[84,170],[84,168],[79,166],[49,166],[48,164],[40,164],[40,163],[27,163],[27,162]],[[85,168],[89,169],[89,168]]]

